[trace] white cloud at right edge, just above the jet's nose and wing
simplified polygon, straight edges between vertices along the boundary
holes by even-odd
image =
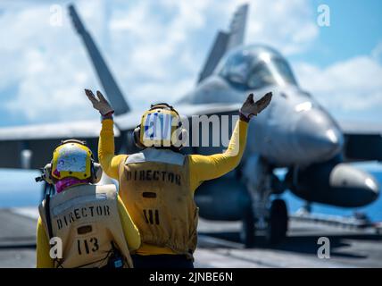
[[[382,109],[382,65],[370,55],[360,55],[319,68],[295,64],[303,88],[311,91],[330,111],[341,114]]]

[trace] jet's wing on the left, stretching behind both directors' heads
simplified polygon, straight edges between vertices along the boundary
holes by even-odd
[[[184,119],[193,115],[237,113],[240,105],[178,105],[179,114]],[[122,146],[131,148],[127,133],[139,124],[143,111],[115,116],[115,149]],[[37,169],[52,158],[54,147],[62,139],[81,139],[87,141],[95,155],[98,150],[98,137],[101,123],[96,121],[59,122],[0,129],[0,168]],[[129,149],[129,151],[137,151]]]

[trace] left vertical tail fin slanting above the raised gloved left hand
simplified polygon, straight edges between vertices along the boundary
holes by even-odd
[[[90,56],[95,71],[98,75],[98,79],[101,81],[101,84],[104,87],[104,92],[110,100],[112,108],[115,110],[115,114],[119,115],[129,112],[129,105],[123,97],[117,82],[112,77],[112,72],[107,67],[103,56],[95,46],[93,38],[87,32],[87,29],[85,29],[85,26],[79,19],[79,14],[72,4],[69,5],[69,13],[71,14],[71,20],[74,27],[76,28],[79,36],[82,38],[86,46],[87,54]]]

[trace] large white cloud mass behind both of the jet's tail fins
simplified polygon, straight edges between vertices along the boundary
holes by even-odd
[[[29,122],[97,116],[83,88],[99,84],[64,6],[62,27],[49,25],[50,4],[57,2],[67,3],[8,1],[0,6],[0,108]],[[76,5],[120,88],[137,108],[174,101],[193,88],[216,30],[228,28],[242,2],[98,0]],[[312,13],[303,0],[253,1],[246,42],[270,44],[286,55],[301,52],[318,35]]]

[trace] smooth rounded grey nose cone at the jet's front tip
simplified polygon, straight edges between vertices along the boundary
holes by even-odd
[[[325,161],[335,156],[344,144],[342,132],[320,110],[305,112],[295,131],[296,145],[306,161]]]

